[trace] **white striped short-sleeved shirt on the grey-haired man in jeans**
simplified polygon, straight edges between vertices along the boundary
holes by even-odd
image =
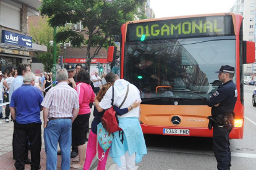
[[[72,110],[79,108],[79,98],[75,89],[64,81],[49,89],[41,105],[49,108],[49,118],[73,117]]]

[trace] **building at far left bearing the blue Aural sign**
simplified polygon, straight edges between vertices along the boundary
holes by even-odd
[[[30,63],[33,51],[46,51],[46,46],[33,44],[27,36],[27,17],[39,15],[40,5],[38,0],[0,0],[1,71]]]

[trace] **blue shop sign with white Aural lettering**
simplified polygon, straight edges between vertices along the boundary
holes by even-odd
[[[32,48],[32,37],[2,30],[2,43]]]

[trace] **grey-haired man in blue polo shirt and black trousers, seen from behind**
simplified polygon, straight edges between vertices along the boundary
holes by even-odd
[[[41,119],[43,95],[35,85],[35,75],[28,72],[23,77],[24,84],[12,93],[10,110],[14,119],[15,168],[24,169],[25,145],[27,137],[31,145],[31,169],[40,169]]]

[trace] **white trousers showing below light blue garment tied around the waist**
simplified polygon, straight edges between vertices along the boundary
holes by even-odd
[[[116,170],[135,170],[135,153],[129,156],[127,151],[120,159],[121,167],[116,164]]]

